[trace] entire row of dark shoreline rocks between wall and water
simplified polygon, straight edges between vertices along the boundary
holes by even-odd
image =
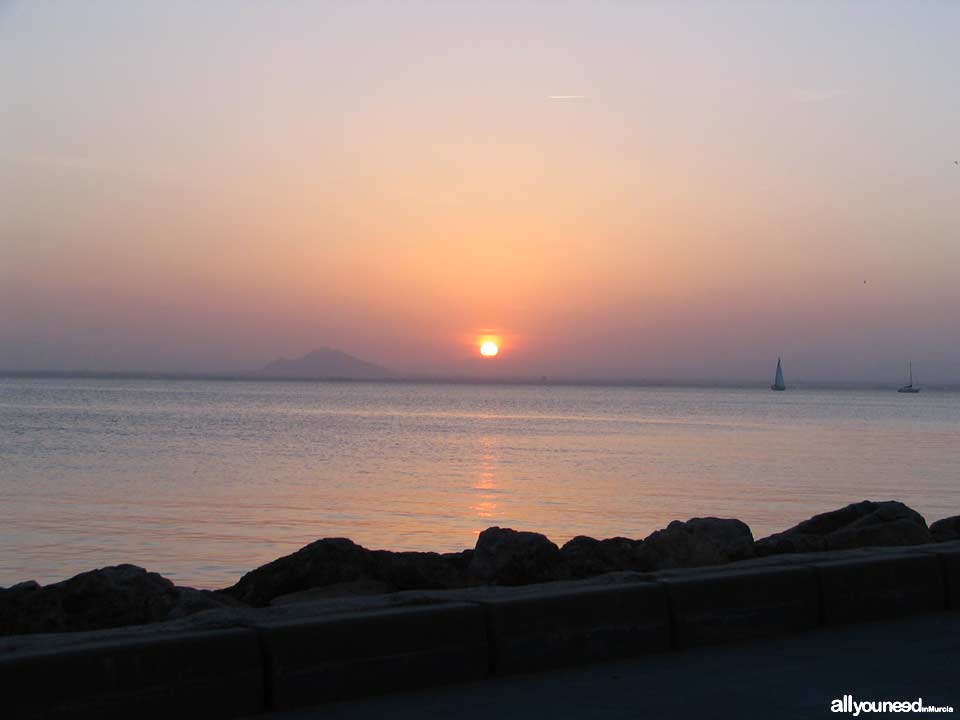
[[[721,565],[784,553],[889,547],[960,539],[960,516],[929,528],[896,501],[863,501],[754,540],[739,520],[674,521],[642,540],[577,536],[563,547],[534,532],[492,527],[458,553],[368,550],[346,538],[317,540],[223,590],[178,587],[134,565],[59,583],[0,588],[0,635],[140,625],[220,607],[264,607],[347,595],[481,585],[527,585],[609,572]]]

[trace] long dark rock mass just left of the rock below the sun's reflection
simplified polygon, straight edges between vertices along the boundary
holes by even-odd
[[[463,587],[469,553],[395,553],[367,550],[346,538],[324,538],[251,570],[236,585],[220,592],[263,607],[274,598],[294,594],[300,598],[336,597],[378,590]],[[313,592],[303,595],[307,590]]]

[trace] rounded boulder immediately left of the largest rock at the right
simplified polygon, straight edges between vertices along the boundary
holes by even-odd
[[[752,556],[753,534],[746,523],[726,518],[674,520],[637,548],[635,569],[667,570],[721,565]]]

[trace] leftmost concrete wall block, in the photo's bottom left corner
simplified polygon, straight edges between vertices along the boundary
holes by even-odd
[[[255,714],[262,677],[257,635],[243,628],[0,657],[4,717],[17,720]]]

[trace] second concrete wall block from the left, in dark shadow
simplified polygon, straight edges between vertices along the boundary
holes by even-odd
[[[483,610],[444,603],[257,626],[273,707],[468,681],[488,674]]]

